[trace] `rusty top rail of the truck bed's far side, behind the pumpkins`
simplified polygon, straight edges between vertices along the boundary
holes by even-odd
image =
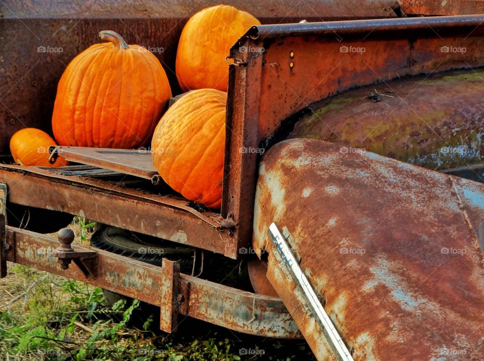
[[[154,0],[117,2],[106,6],[95,0],[73,0],[69,3],[52,0],[36,0],[28,3],[4,1],[0,8],[5,18],[160,18],[188,19],[196,12],[219,5],[218,0],[203,3],[196,0],[157,2]],[[281,3],[277,0],[244,1],[231,0],[227,5],[250,12],[266,23],[274,24],[283,19],[364,19],[395,16],[393,7],[397,1],[362,0],[355,7],[352,0],[306,0],[304,4]]]

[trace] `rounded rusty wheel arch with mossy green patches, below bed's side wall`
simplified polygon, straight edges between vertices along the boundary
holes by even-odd
[[[365,149],[429,169],[479,165],[482,79],[482,69],[460,70],[344,92],[305,109],[289,138],[327,140],[342,152]]]

